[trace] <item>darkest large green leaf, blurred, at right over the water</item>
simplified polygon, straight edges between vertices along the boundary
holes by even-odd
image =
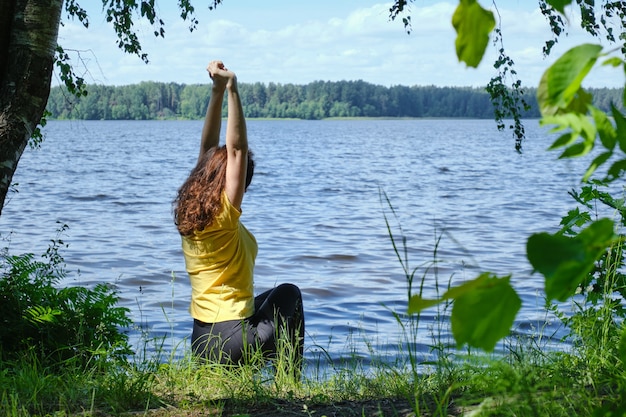
[[[565,301],[593,269],[613,242],[613,222],[600,219],[575,237],[538,233],[527,242],[528,260],[545,277],[548,300]]]

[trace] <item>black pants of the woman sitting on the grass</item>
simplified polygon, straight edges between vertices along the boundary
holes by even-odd
[[[256,296],[254,315],[246,319],[218,323],[194,320],[191,349],[202,359],[236,364],[257,349],[265,357],[272,357],[277,338],[283,335],[292,344],[295,359],[301,362],[304,311],[300,289],[293,284],[281,284]]]

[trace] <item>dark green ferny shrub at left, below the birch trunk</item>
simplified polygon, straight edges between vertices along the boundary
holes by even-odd
[[[58,288],[66,277],[62,244],[53,240],[43,260],[7,249],[0,254],[0,360],[31,352],[44,364],[70,358],[86,364],[96,356],[131,353],[124,331],[129,310],[117,306],[114,288]]]

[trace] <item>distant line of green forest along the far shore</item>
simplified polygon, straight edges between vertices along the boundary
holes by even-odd
[[[490,119],[489,94],[483,88],[392,86],[365,81],[315,81],[306,85],[239,84],[249,118],[324,119],[330,117],[442,117]],[[51,119],[152,120],[201,119],[211,94],[210,84],[142,82],[125,86],[89,85],[76,98],[53,87],[47,110]],[[623,106],[623,89],[589,89],[594,103],[609,111]],[[527,89],[526,118],[539,117],[535,89]],[[227,106],[226,100],[224,106]]]

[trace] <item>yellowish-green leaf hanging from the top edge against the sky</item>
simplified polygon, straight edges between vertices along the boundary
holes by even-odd
[[[476,0],[461,0],[452,16],[456,30],[456,55],[459,61],[476,68],[489,44],[489,34],[496,26],[493,13],[481,7]]]

